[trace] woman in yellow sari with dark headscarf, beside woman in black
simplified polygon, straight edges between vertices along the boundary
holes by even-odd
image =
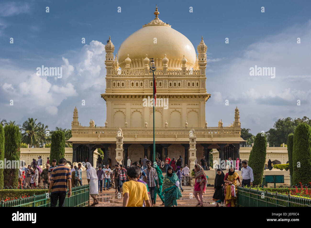
[[[232,165],[229,172],[225,175],[225,203],[227,207],[235,207],[236,199],[238,198],[238,190],[236,180],[240,182],[239,186],[242,186],[239,174],[234,172],[234,166]]]

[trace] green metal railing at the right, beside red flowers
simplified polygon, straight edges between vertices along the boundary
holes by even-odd
[[[236,207],[311,207],[311,199],[238,186]]]

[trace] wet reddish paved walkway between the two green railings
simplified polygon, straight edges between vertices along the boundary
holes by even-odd
[[[194,207],[197,204],[197,200],[193,195],[193,187],[191,186],[183,186],[183,197],[177,200],[177,204],[179,207]],[[215,207],[215,202],[213,201],[214,188],[207,187],[206,194],[203,194],[203,204],[204,207]],[[111,188],[108,191],[104,191],[103,193],[99,193],[97,199],[100,201],[99,204],[95,205],[95,207],[122,207],[123,205],[123,197],[117,193],[115,193],[115,189]],[[90,196],[90,205],[93,203],[93,198]],[[156,199],[156,207],[164,207],[160,206],[162,201],[159,196]]]

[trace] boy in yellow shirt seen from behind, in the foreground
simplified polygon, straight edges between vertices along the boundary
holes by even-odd
[[[138,182],[140,167],[131,165],[128,167],[128,180],[123,183],[123,207],[142,207],[144,200],[147,207],[151,207],[146,186]]]

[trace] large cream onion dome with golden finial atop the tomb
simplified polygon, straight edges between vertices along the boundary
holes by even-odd
[[[119,65],[124,69],[124,60],[129,55],[132,60],[131,69],[143,69],[146,54],[148,58],[156,60],[157,69],[163,68],[162,59],[165,54],[169,59],[168,69],[181,69],[183,55],[187,59],[187,69],[191,69],[196,60],[196,52],[190,40],[160,20],[157,15],[154,20],[124,40],[118,50]]]

